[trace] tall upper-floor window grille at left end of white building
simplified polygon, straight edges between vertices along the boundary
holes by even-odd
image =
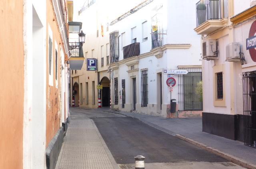
[[[110,41],[110,63],[118,62],[119,60],[118,31],[110,33],[109,41]]]

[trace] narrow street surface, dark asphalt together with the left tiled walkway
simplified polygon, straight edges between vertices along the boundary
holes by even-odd
[[[126,169],[134,167],[136,155],[146,157],[146,169],[242,168],[133,118],[97,109],[71,108],[70,113],[56,169]]]

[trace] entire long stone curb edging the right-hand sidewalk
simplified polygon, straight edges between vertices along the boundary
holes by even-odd
[[[110,112],[110,111],[109,111],[109,112]],[[122,112],[120,112],[120,113],[118,113],[118,112],[110,112],[110,113],[122,114],[122,115],[127,116],[127,117],[130,117],[130,118],[136,118],[136,117],[134,117],[134,116],[127,115],[127,114],[124,114],[124,113],[122,113]],[[167,133],[167,134],[170,134],[170,135],[172,135],[172,136],[175,136],[176,138],[179,138],[179,139],[181,139],[181,140],[187,141],[187,142],[189,142],[189,143],[191,143],[191,144],[193,144],[193,145],[196,145],[196,146],[198,146],[198,147],[200,147],[200,148],[202,148],[202,149],[204,149],[204,150],[206,150],[206,151],[209,151],[209,152],[211,152],[211,153],[214,153],[214,154],[216,154],[216,155],[218,155],[218,156],[220,156],[220,157],[222,157],[222,158],[224,158],[224,159],[227,159],[228,161],[230,161],[230,162],[232,162],[232,163],[235,163],[235,164],[237,164],[237,165],[240,165],[241,167],[245,167],[245,168],[247,168],[247,169],[256,169],[256,165],[253,164],[253,163],[250,163],[250,162],[248,162],[248,161],[245,161],[245,160],[243,160],[243,159],[240,159],[240,158],[235,157],[235,156],[233,156],[233,155],[230,155],[230,154],[228,154],[228,153],[224,153],[224,152],[222,152],[222,151],[220,151],[220,150],[218,150],[218,149],[215,149],[215,148],[213,148],[213,147],[210,147],[210,146],[208,146],[208,145],[206,145],[206,144],[203,144],[203,143],[200,143],[200,142],[198,142],[198,141],[192,140],[192,139],[187,138],[187,137],[185,137],[185,136],[182,136],[182,135],[180,135],[180,134],[176,134],[176,133],[174,133],[174,132],[171,132],[171,131],[169,131],[169,130],[166,130],[165,128],[159,127],[159,126],[157,126],[156,124],[153,124],[153,123],[151,123],[151,122],[147,122],[146,120],[143,120],[143,119],[141,119],[141,118],[136,118],[136,119],[140,120],[141,122],[143,122],[143,123],[145,123],[145,124],[148,124],[149,126],[151,126],[151,127],[153,127],[153,128],[156,128],[156,129],[158,129],[158,130],[160,130],[160,131],[162,131],[162,132],[165,132],[165,133]]]

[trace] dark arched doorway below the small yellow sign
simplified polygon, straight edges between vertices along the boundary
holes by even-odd
[[[107,77],[103,77],[100,85],[102,85],[102,107],[110,106],[110,80]]]

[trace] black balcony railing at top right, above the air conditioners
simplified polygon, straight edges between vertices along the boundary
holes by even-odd
[[[220,0],[200,0],[196,3],[196,26],[208,20],[221,19]]]

